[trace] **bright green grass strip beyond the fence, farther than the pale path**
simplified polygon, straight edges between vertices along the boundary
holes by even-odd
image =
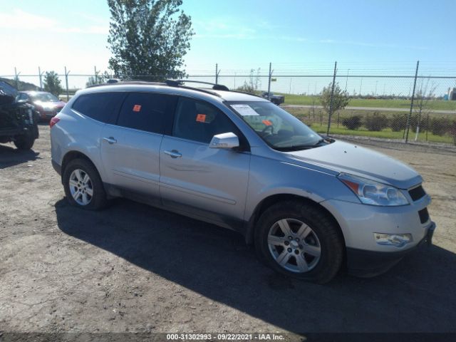
[[[285,95],[285,105],[321,105],[318,96]],[[352,98],[348,106],[378,107],[378,108],[410,108],[410,100],[380,100],[367,98]],[[456,101],[429,100],[426,108],[435,110],[456,110]]]

